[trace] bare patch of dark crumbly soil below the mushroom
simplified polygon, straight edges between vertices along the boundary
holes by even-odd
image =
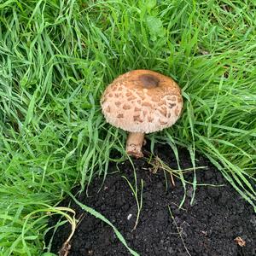
[[[177,163],[172,150],[160,145],[155,154],[172,169]],[[182,168],[191,167],[189,154],[179,152]],[[183,198],[183,185],[170,174],[159,169],[155,174],[147,160],[133,160],[140,188],[143,179],[143,208],[133,230],[137,217],[137,204],[131,193],[125,176],[134,184],[134,172],[129,161],[109,167],[109,174],[102,186],[102,178],[95,179],[89,187],[89,196],[82,193],[77,199],[83,204],[101,212],[115,225],[125,237],[129,247],[140,255],[208,255],[235,256],[256,255],[256,217],[253,207],[247,204],[239,194],[224,180],[224,177],[212,165],[197,157],[196,166],[206,166],[196,171],[197,183],[224,184],[221,187],[197,186],[195,200],[191,205],[193,187],[187,184],[186,200],[178,209]],[[119,172],[117,172],[119,171]],[[184,174],[192,181],[193,172]],[[102,189],[99,191],[99,189]],[[140,192],[140,191],[139,191]],[[75,193],[75,191],[73,191]],[[76,216],[83,216],[71,241],[70,256],[85,255],[130,255],[125,246],[114,235],[113,229],[99,218],[84,212],[72,200],[66,199],[61,206],[72,207]],[[169,211],[169,208],[171,212]],[[52,218],[50,224],[57,219]],[[62,225],[53,238],[52,252],[57,253],[70,233],[70,225]],[[52,234],[46,236],[46,241]],[[240,237],[240,238],[238,238]],[[235,241],[236,240],[236,241]],[[240,240],[240,245],[238,245]],[[245,241],[245,246],[242,242]]]

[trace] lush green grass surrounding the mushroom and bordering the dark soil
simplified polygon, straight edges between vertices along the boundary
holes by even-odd
[[[194,167],[200,151],[255,209],[255,7],[0,1],[0,254],[40,255],[44,210],[125,159],[111,158],[124,153],[126,135],[105,123],[99,99],[131,69],[164,73],[183,88],[182,119],[148,135],[151,147],[169,143],[177,159],[177,146],[186,147]]]

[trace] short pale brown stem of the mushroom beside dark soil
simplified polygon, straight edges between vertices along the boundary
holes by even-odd
[[[126,152],[136,158],[143,157],[143,142],[144,133],[142,132],[130,132],[126,142]]]

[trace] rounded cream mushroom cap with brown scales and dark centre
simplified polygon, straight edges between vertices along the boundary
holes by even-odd
[[[150,70],[133,70],[108,85],[101,105],[109,124],[125,131],[150,133],[177,121],[183,98],[171,78]]]

